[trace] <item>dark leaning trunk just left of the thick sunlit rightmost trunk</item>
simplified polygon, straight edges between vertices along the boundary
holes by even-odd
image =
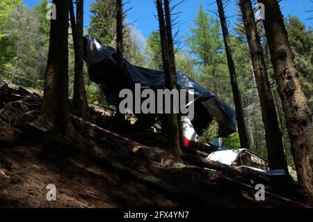
[[[278,116],[275,109],[271,86],[268,80],[263,48],[259,38],[259,33],[257,33],[257,24],[255,22],[255,16],[252,10],[251,2],[250,0],[240,0],[239,4],[243,16],[253,72],[255,74],[255,81],[257,83],[257,90],[262,108],[262,118],[265,127],[265,137],[270,168],[271,170],[284,169],[286,173],[289,173],[287,161],[284,157],[282,132],[280,132],[280,127],[278,124]]]

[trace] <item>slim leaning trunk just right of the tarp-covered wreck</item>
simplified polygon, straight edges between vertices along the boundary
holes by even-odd
[[[230,70],[230,81],[232,83],[232,93],[234,95],[234,105],[236,109],[236,120],[238,124],[238,132],[240,144],[242,148],[249,148],[249,138],[246,129],[246,122],[243,114],[243,107],[241,104],[240,90],[237,82],[236,68],[234,59],[232,58],[232,48],[230,46],[230,35],[227,31],[226,17],[224,13],[224,6],[222,0],[216,0],[218,5],[218,14],[220,17],[220,24],[222,26],[223,37],[225,42],[225,51],[227,55],[228,69]]]

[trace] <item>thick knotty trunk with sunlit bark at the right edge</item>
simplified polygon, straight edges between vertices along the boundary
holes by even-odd
[[[289,45],[278,1],[258,2],[265,6],[264,28],[286,118],[298,182],[307,203],[313,205],[312,113],[301,90],[299,73],[295,67],[294,54]]]

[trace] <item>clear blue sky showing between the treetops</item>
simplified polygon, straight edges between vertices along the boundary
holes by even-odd
[[[90,22],[90,3],[95,0],[85,0],[85,28],[88,28]],[[175,0],[179,2],[180,0]],[[40,0],[23,0],[23,2],[33,8],[33,6],[38,5]],[[198,7],[200,3],[204,6],[206,10],[216,10],[216,3],[214,0],[185,0],[182,5],[177,8],[178,11],[182,11],[179,20],[182,24],[179,26],[179,35],[183,36],[188,33],[188,27],[193,25],[193,18],[198,12]],[[230,4],[227,6],[227,15],[232,16],[236,12],[237,8],[235,6],[236,0],[230,0]],[[313,26],[313,19],[307,20],[307,18],[313,15],[306,13],[305,10],[312,10],[312,2],[310,0],[282,0],[280,3],[282,7],[282,13],[284,16],[289,14],[296,15],[300,18],[302,22],[307,25]],[[129,21],[136,21],[134,26],[136,29],[143,33],[143,36],[147,38],[151,31],[156,30],[158,27],[157,19],[154,15],[157,13],[157,9],[154,7],[153,0],[130,0],[130,3],[126,6],[127,8],[133,7],[127,13],[127,19]],[[212,14],[208,11],[209,14]],[[235,22],[236,17],[230,18],[230,24]]]

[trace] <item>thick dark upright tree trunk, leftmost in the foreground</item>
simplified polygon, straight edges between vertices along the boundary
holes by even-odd
[[[45,73],[42,113],[49,127],[66,134],[68,115],[68,4],[54,0],[57,19],[51,20],[49,54]]]

